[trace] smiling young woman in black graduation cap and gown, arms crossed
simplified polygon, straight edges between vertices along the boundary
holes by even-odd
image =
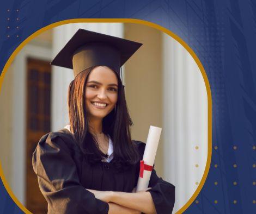
[[[155,169],[148,190],[135,192],[145,143],[131,140],[119,74],[141,45],[80,29],[53,60],[73,68],[75,79],[70,125],[42,136],[33,153],[48,213],[172,212],[175,188]]]

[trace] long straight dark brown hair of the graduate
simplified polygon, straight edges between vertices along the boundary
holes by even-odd
[[[86,110],[86,83],[92,70],[90,67],[71,81],[68,92],[68,107],[70,130],[80,146],[82,153],[91,164],[101,161],[104,154],[99,149],[99,143],[88,129],[88,116]],[[111,68],[112,69],[112,68]],[[113,70],[113,69],[112,69]],[[113,70],[114,71],[114,70]],[[114,72],[118,79],[118,99],[113,109],[102,121],[102,132],[109,135],[113,142],[113,162],[117,169],[127,169],[137,163],[139,154],[132,143],[130,127],[132,120],[127,109],[123,84],[119,75]]]

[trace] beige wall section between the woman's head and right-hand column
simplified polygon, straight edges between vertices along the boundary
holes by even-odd
[[[124,30],[125,39],[143,43],[125,64],[125,94],[134,124],[132,139],[146,142],[150,125],[162,127],[162,33],[133,23],[125,23]],[[160,176],[163,174],[161,139],[155,160]]]

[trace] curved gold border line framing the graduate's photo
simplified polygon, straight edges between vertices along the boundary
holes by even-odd
[[[77,23],[77,22],[123,22],[123,23],[137,23],[137,24],[144,24],[145,26],[149,26],[149,27],[153,27],[155,29],[161,30],[161,32],[164,32],[166,34],[168,34],[169,36],[173,37],[173,39],[175,39],[176,41],[178,41],[186,50],[188,53],[191,54],[191,56],[193,57],[194,61],[196,61],[197,66],[200,69],[200,72],[203,75],[203,79],[204,79],[204,83],[206,86],[206,91],[207,91],[207,97],[208,97],[208,155],[207,155],[207,161],[206,161],[206,166],[205,166],[205,170],[204,170],[204,174],[202,177],[202,180],[200,181],[197,190],[194,192],[194,194],[191,196],[191,198],[187,201],[187,203],[182,206],[176,213],[182,213],[184,212],[188,206],[190,206],[194,199],[196,199],[196,197],[198,196],[199,192],[202,190],[203,185],[205,183],[206,177],[209,173],[209,169],[210,169],[210,163],[211,163],[211,154],[212,154],[212,99],[211,99],[211,89],[210,89],[210,84],[209,84],[209,80],[208,77],[206,75],[206,72],[204,70],[204,67],[202,65],[202,63],[200,62],[200,60],[198,59],[197,55],[193,52],[193,50],[187,45],[187,43],[182,40],[178,35],[174,34],[173,32],[171,32],[170,30],[160,26],[159,24],[155,24],[152,22],[148,22],[148,21],[144,21],[144,20],[137,20],[134,18],[75,18],[75,19],[71,19],[71,20],[64,20],[64,21],[59,21],[56,23],[52,23],[44,28],[41,28],[39,30],[37,30],[35,33],[33,33],[32,35],[28,36],[27,39],[25,39],[13,52],[13,54],[11,54],[10,58],[8,59],[7,63],[5,64],[4,68],[3,68],[3,72],[1,73],[0,76],[0,92],[1,92],[1,86],[3,83],[3,78],[5,73],[7,72],[9,66],[11,65],[11,62],[13,62],[15,56],[17,55],[17,53],[19,53],[21,51],[21,49],[27,45],[27,43],[29,41],[31,41],[32,39],[34,39],[36,36],[38,36],[39,34],[45,32],[46,30],[52,29],[54,27],[57,26],[61,26],[63,24],[69,24],[69,23]],[[23,204],[21,204],[21,202],[16,198],[16,196],[14,195],[13,191],[11,191],[11,188],[8,185],[7,180],[4,178],[4,174],[3,174],[3,170],[2,170],[2,166],[0,164],[0,177],[3,181],[4,187],[6,188],[7,192],[9,193],[10,197],[14,200],[14,202],[17,204],[17,206],[20,207],[20,209],[25,212],[25,213],[31,213]]]

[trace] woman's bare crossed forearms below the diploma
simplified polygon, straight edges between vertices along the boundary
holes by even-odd
[[[150,192],[115,192],[115,191],[88,191],[94,193],[95,198],[107,202],[109,214],[115,213],[156,213],[155,205]]]

